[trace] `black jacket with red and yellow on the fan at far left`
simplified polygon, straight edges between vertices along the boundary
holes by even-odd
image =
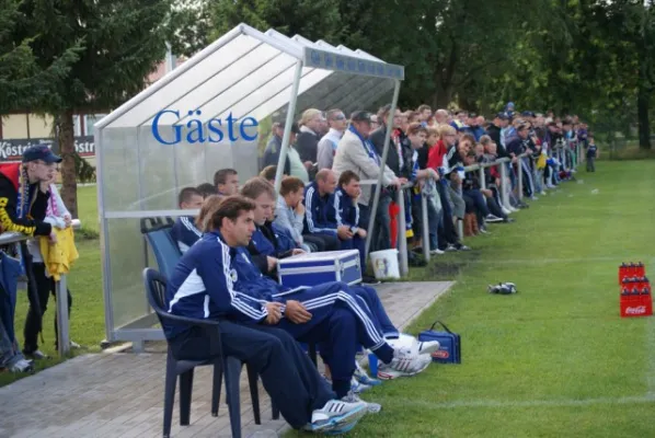
[[[31,184],[28,188],[31,206],[23,218],[18,218],[16,201],[19,186],[20,163],[7,165],[0,170],[0,228],[2,232],[15,231],[27,235],[49,235],[53,227],[44,222],[48,207],[49,192],[38,189],[38,183]]]

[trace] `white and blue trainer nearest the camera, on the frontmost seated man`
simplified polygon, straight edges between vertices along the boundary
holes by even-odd
[[[324,434],[343,434],[351,430],[357,422],[366,415],[368,406],[366,402],[344,402],[341,400],[331,400],[320,410],[311,414],[311,424],[307,425],[306,430],[321,431]]]

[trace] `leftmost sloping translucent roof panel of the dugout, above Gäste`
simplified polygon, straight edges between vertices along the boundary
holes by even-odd
[[[234,64],[243,55],[253,50],[262,43],[246,35],[239,35],[220,47],[196,66],[138,103],[134,108],[123,114],[110,126],[127,127],[140,125],[150,119],[158,111],[166,108],[172,103],[195,90],[199,84],[219,74],[223,69]]]

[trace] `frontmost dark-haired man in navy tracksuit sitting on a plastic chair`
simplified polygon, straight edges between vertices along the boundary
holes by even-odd
[[[166,288],[168,311],[187,318],[221,320],[221,324],[219,338],[218,332],[212,330],[180,322],[164,323],[172,354],[177,359],[202,360],[222,349],[223,355],[255,369],[272,401],[294,428],[345,433],[365,414],[366,403],[336,400],[290,331],[280,330],[285,328],[283,320],[300,323],[298,319],[302,316],[294,311],[294,304],[287,302],[285,307],[281,300],[245,292],[238,287],[240,279],[234,262],[241,260],[250,264],[250,261],[242,246],[232,249],[228,243],[248,243],[254,230],[253,209],[254,205],[240,196],[222,200],[208,218],[212,231],[205,233],[176,265]],[[225,231],[226,238],[218,228]],[[260,298],[255,298],[257,296]],[[267,299],[262,299],[264,297]],[[330,330],[345,339],[349,336],[354,343],[354,324],[347,322],[332,324]]]

